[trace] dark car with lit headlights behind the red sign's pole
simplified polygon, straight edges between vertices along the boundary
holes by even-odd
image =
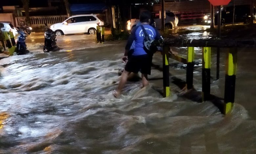
[[[255,7],[253,7],[253,19],[256,19],[255,14]],[[233,16],[234,16],[234,23],[244,22],[249,23],[250,21],[250,5],[237,5],[235,6],[235,12],[234,7],[229,6],[226,8],[223,8],[221,11],[221,24],[228,24],[233,23]],[[210,24],[210,14],[205,14],[204,16],[204,23]],[[214,14],[214,24],[218,24],[218,12]]]

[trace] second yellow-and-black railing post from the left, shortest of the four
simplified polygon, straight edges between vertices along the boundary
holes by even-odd
[[[187,89],[193,88],[193,70],[194,70],[194,47],[187,48]]]

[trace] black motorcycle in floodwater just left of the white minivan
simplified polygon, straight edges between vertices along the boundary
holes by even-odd
[[[47,26],[47,24],[45,24]],[[56,45],[56,35],[50,28],[45,28],[44,32],[44,52],[57,51],[59,47]]]

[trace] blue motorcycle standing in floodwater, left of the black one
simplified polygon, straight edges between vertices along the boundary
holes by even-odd
[[[23,30],[18,30],[19,36],[17,38],[16,53],[17,55],[23,55],[29,53],[26,45],[26,37],[28,37]]]

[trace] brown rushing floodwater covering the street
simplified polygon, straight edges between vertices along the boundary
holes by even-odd
[[[203,29],[202,26],[190,27]],[[209,38],[192,32],[187,38]],[[185,65],[170,59],[170,97],[162,98],[162,56],[153,58],[150,86],[130,77],[117,99],[126,41],[96,44],[95,35],[57,37],[60,51],[43,53],[43,33],[27,39],[32,54],[0,60],[0,153],[255,153],[256,53],[238,49],[233,111],[224,116],[200,102],[202,48],[195,48],[194,87],[181,94]],[[173,48],[186,57],[186,48]],[[211,94],[224,98],[225,52],[216,81],[212,49]]]

